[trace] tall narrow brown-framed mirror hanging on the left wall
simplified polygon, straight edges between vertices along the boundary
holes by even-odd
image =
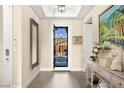
[[[38,65],[38,23],[34,19],[30,19],[30,59],[31,68]]]

